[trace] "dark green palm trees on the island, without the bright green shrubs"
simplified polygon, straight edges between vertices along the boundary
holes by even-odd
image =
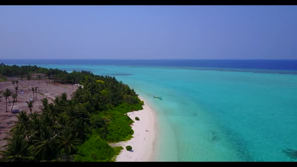
[[[38,87],[32,88],[33,100],[27,102],[30,114],[19,113],[18,121],[10,131],[11,137],[7,138],[8,144],[0,151],[2,160],[48,161],[61,154],[71,157],[76,154],[77,146],[84,143],[94,130],[103,138],[109,133],[107,127],[114,115],[109,113],[111,109],[123,103],[129,105],[139,101],[134,90],[115,77],[94,75],[89,71],[67,73],[58,69],[48,69],[48,73],[53,74],[54,81],[78,82],[84,88],[80,87],[70,100],[65,93],[55,97],[53,103],[43,98],[41,113],[32,112]],[[3,95],[7,100],[12,93],[7,89]],[[16,97],[13,98],[17,101]],[[123,116],[122,113],[119,115]],[[90,121],[95,116],[101,121],[100,126],[98,122]],[[126,118],[119,121],[126,121]]]

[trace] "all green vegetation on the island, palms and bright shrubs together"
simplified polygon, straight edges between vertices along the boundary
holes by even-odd
[[[108,142],[132,137],[129,125],[133,120],[127,112],[142,110],[143,102],[133,89],[115,77],[89,71],[67,73],[59,69],[4,64],[0,65],[0,72],[8,76],[45,73],[55,82],[83,86],[71,99],[67,99],[65,93],[55,97],[53,103],[42,99],[40,114],[32,111],[33,101],[27,102],[31,114],[17,115],[8,144],[0,151],[2,161],[113,161],[123,148],[111,147]],[[37,87],[32,90],[35,100],[36,92]],[[12,95],[8,90],[4,96]]]

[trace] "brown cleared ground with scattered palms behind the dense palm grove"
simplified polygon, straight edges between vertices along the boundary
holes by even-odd
[[[36,79],[36,78],[32,78]],[[34,100],[32,113],[34,112],[41,112],[40,106],[41,106],[41,99],[47,98],[49,103],[52,103],[55,99],[55,96],[59,96],[62,93],[67,94],[67,98],[70,99],[70,96],[73,92],[76,91],[77,86],[73,87],[72,85],[63,85],[63,84],[51,84],[46,85],[46,79],[47,78],[41,78],[40,79],[40,87],[39,91],[37,91],[37,100]],[[7,81],[0,81],[0,92],[5,91],[7,88],[10,89],[13,93],[16,93],[14,85],[12,84],[12,80],[17,80],[17,78],[8,77]],[[48,81],[48,79],[47,79]],[[19,79],[19,89],[22,88],[22,80]],[[15,84],[15,86],[17,86]],[[29,88],[28,90],[28,80],[23,80],[23,94],[21,94],[21,90],[18,91],[18,102],[15,103],[14,109],[22,109],[23,111],[26,111],[28,114],[30,114],[30,111],[27,107],[26,101],[29,101],[30,99],[33,99],[33,93],[31,91],[32,87],[38,87],[38,80],[29,80]],[[13,114],[11,112],[12,106],[13,106],[13,98],[10,97],[11,103],[8,103],[8,112],[6,112],[6,100],[5,97],[3,97],[1,93],[0,98],[0,148],[6,144],[6,141],[4,140],[5,137],[9,137],[8,132],[10,131],[11,127],[14,125],[14,121],[17,121],[17,114]],[[35,95],[34,95],[35,96]]]

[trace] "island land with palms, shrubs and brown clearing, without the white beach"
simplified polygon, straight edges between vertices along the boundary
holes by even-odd
[[[123,147],[108,143],[132,138],[127,113],[144,104],[122,81],[89,71],[2,63],[0,85],[1,161],[114,161]]]

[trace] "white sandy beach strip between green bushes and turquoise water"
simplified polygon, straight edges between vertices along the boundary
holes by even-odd
[[[141,97],[139,99],[144,102],[143,110],[128,113],[134,121],[131,125],[134,131],[133,138],[116,144],[124,148],[116,157],[116,161],[152,161],[153,142],[156,135],[155,113],[145,99]],[[135,117],[138,117],[139,121],[136,121]],[[132,146],[131,151],[126,150],[127,145]]]

